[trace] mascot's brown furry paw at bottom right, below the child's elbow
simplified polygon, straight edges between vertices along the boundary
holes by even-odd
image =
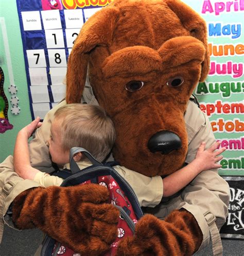
[[[116,256],[192,255],[201,241],[196,219],[185,210],[173,211],[165,220],[146,214],[138,221],[135,235],[120,242]]]

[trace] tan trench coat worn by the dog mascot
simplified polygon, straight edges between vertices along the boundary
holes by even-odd
[[[85,87],[82,101],[86,101],[89,104],[97,104],[89,86]],[[49,173],[53,170],[46,141],[50,136],[50,125],[54,112],[64,104],[66,104],[65,101],[62,101],[61,104],[46,114],[42,127],[37,130],[33,140],[29,143],[31,164],[43,172]],[[215,138],[208,118],[191,100],[188,103],[184,118],[188,134],[186,163],[189,163],[195,158],[196,151],[202,141],[206,142],[206,147],[210,147],[215,142]],[[133,187],[133,184],[131,185]],[[0,164],[0,216],[7,225],[13,227],[11,218],[6,213],[14,198],[30,187],[37,186],[39,186],[39,183],[23,180],[13,172],[11,156]],[[151,212],[160,218],[164,218],[173,209],[185,208],[193,214],[203,233],[203,242],[199,248],[200,250],[210,242],[211,230],[215,228],[215,232],[212,234],[212,241],[214,236],[219,236],[219,234],[216,234],[215,224],[218,229],[224,224],[228,215],[229,197],[228,183],[218,175],[216,169],[212,169],[199,174],[185,187],[181,196],[173,198],[168,203],[159,204]],[[3,226],[3,221],[0,220],[0,223]],[[218,244],[219,241],[218,237],[218,241],[213,241],[213,243]],[[218,254],[216,252],[215,255],[221,255],[221,253]]]

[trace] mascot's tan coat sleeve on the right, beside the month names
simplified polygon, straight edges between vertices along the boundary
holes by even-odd
[[[215,138],[207,116],[191,101],[185,113],[185,123],[188,132],[186,163],[190,163],[195,158],[200,143],[204,141],[206,148],[209,148],[215,142]],[[200,250],[208,244],[210,239],[206,221],[209,215],[212,215],[212,219],[216,218],[215,223],[218,229],[225,223],[230,200],[229,185],[218,175],[217,169],[206,170],[185,187],[181,196],[183,202],[180,208],[193,214],[202,230],[203,242]]]

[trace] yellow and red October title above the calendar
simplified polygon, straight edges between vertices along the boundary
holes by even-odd
[[[88,6],[106,6],[113,0],[62,0],[63,6],[66,9],[76,9]]]

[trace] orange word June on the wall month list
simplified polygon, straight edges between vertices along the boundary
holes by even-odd
[[[208,49],[210,51],[210,56],[215,57],[219,56],[233,56],[233,55],[242,55],[244,54],[244,44],[218,44],[213,45],[212,43],[208,44]]]

